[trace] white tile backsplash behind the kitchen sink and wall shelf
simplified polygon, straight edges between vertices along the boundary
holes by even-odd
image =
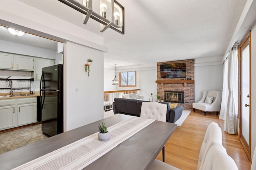
[[[20,70],[1,70],[0,69],[0,78],[7,78],[8,76],[11,76],[10,79],[30,79],[32,78],[32,72],[31,71],[20,71]],[[5,80],[0,80],[0,93],[9,93],[10,89],[1,89],[1,88],[9,88],[9,82],[6,82]],[[13,92],[29,92],[29,81],[17,81],[12,80],[12,87],[13,88],[23,88],[23,89],[13,89]],[[35,80],[34,82],[31,82],[31,91],[39,91],[40,88],[40,81]],[[26,88],[28,87],[28,88]]]

